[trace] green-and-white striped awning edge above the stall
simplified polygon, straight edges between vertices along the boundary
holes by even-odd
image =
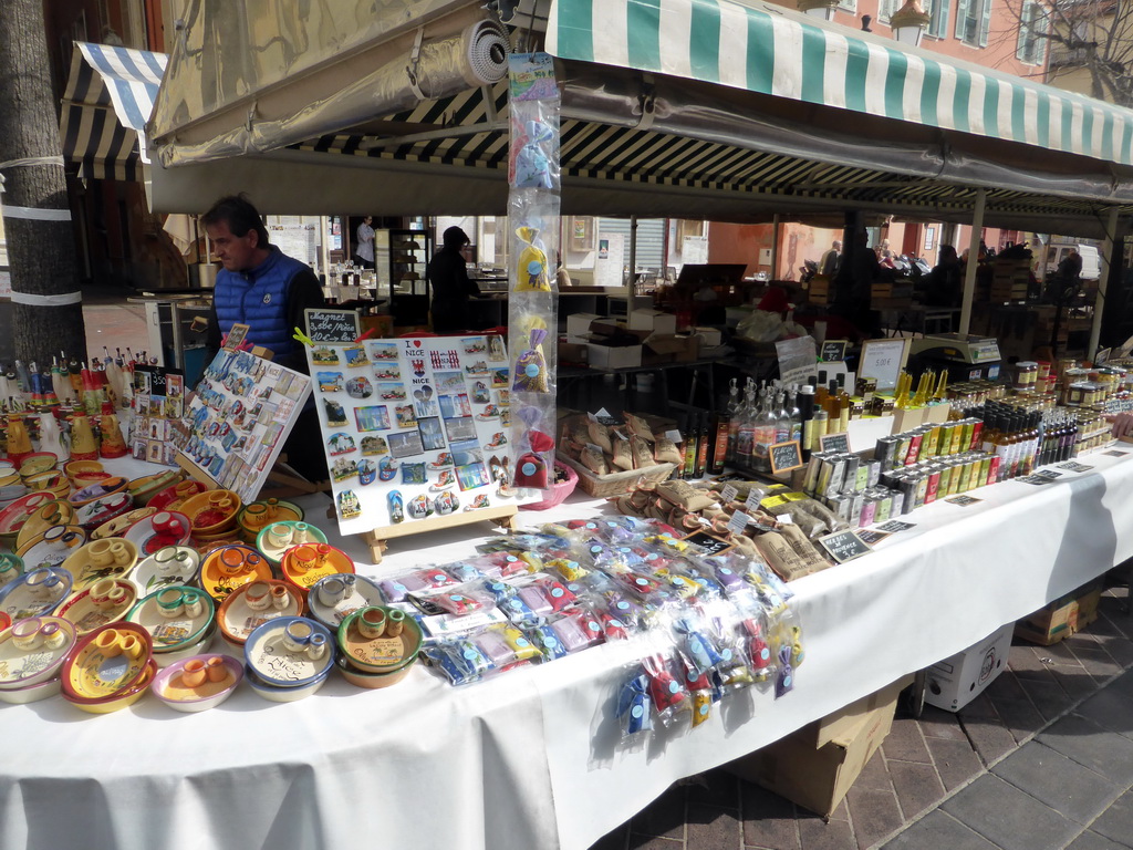
[[[1133,164],[1133,111],[758,0],[554,0],[546,48]]]

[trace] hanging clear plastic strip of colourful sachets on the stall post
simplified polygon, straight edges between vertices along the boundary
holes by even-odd
[[[509,69],[511,457],[514,485],[537,492],[554,483],[560,102],[548,54],[512,54]]]

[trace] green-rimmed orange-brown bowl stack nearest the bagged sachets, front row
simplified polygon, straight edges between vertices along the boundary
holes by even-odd
[[[412,617],[381,605],[347,617],[339,623],[337,638],[339,672],[359,688],[387,688],[404,679],[424,639]]]

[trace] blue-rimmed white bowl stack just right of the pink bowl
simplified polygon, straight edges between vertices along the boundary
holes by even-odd
[[[334,666],[334,636],[306,617],[269,620],[244,645],[245,680],[264,699],[291,703],[323,687]]]

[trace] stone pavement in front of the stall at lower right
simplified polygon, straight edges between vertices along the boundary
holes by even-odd
[[[959,714],[898,708],[828,822],[723,770],[670,788],[591,850],[1133,848],[1133,619],[1125,587],[1054,646],[1015,638]]]

